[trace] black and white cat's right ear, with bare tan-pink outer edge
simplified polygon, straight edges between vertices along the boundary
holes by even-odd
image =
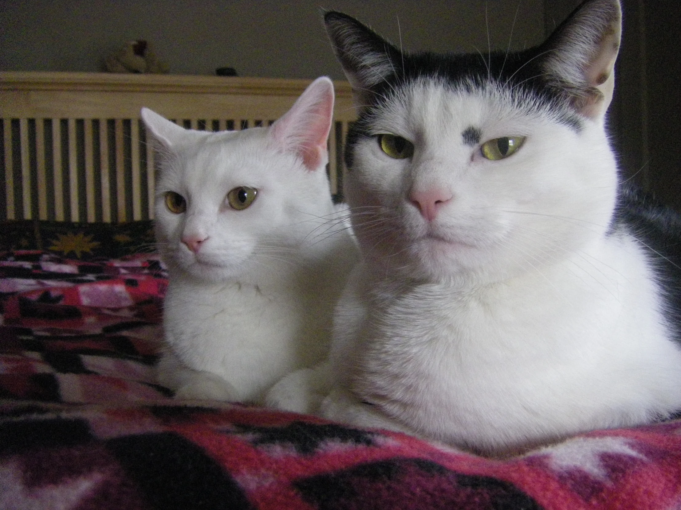
[[[583,116],[603,116],[612,101],[621,33],[618,0],[587,0],[541,46],[549,83]]]

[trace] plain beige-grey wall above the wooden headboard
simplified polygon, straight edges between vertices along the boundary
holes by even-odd
[[[475,52],[539,43],[543,0],[4,0],[0,69],[99,71],[129,39],[152,41],[171,73],[342,78],[321,7],[357,16],[410,50]],[[517,16],[516,16],[517,10]],[[487,23],[486,23],[487,12]],[[399,23],[398,23],[399,20]]]

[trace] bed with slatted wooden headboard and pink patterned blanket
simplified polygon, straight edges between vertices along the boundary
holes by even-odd
[[[0,73],[0,508],[674,509],[681,422],[489,459],[385,430],[176,401],[154,377],[146,105],[195,129],[267,124],[305,80]],[[353,119],[336,83],[331,192]]]

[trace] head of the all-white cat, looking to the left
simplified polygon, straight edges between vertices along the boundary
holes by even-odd
[[[193,131],[142,109],[160,161],[156,236],[172,269],[221,282],[309,239],[332,207],[333,105],[331,80],[318,78],[266,128]]]

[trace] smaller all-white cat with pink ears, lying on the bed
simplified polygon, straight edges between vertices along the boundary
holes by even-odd
[[[170,273],[159,382],[177,398],[261,402],[326,355],[356,257],[325,171],[333,105],[319,78],[268,128],[191,131],[142,109]]]

